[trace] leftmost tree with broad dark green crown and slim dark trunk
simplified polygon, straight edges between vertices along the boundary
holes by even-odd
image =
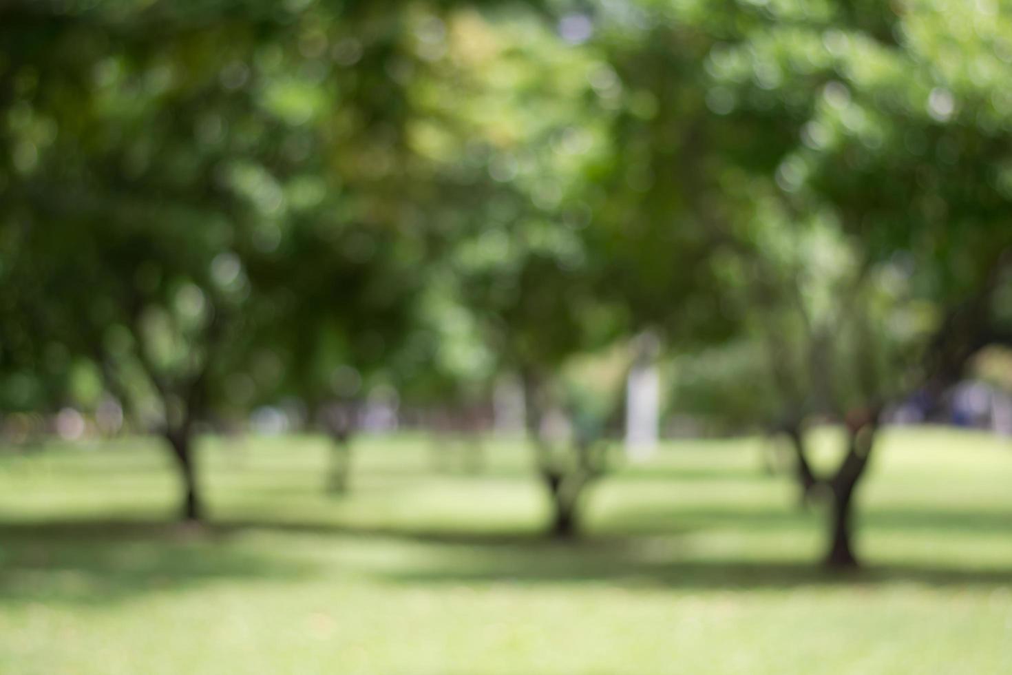
[[[11,303],[32,341],[93,360],[125,407],[157,420],[183,516],[197,519],[194,428],[283,386],[267,341],[285,333],[271,322],[332,344],[328,329],[361,323],[366,306],[403,305],[383,287],[390,256],[362,256],[391,236],[370,213],[398,186],[361,162],[399,143],[371,116],[405,115],[377,75],[397,43],[355,3],[58,9],[2,10],[4,228],[21,254]],[[352,105],[327,98],[339,89]],[[338,154],[345,142],[364,145]],[[311,159],[315,147],[328,152]],[[335,189],[351,197],[335,205]],[[327,312],[344,282],[349,309]],[[309,323],[307,294],[328,325]]]

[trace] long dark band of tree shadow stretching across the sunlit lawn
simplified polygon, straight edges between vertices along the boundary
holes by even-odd
[[[904,517],[921,524],[937,515]],[[242,536],[257,532],[280,537],[251,541]],[[425,531],[266,519],[226,521],[198,529],[130,520],[0,522],[0,606],[51,601],[107,604],[221,580],[255,584],[345,572],[333,563],[324,566],[312,557],[300,560],[285,555],[285,535],[321,537],[321,545],[349,549],[384,539],[424,546],[427,551],[418,557],[406,550],[394,566],[356,571],[363,578],[409,586],[599,584],[744,591],[897,583],[1012,585],[1012,569],[871,565],[840,574],[815,561],[709,560],[693,551],[692,537],[687,536],[691,532],[669,527],[662,536],[603,535],[559,542],[532,531]]]

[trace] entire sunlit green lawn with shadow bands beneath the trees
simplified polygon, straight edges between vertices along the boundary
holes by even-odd
[[[363,440],[341,498],[317,439],[201,453],[203,530],[157,441],[0,453],[0,673],[1012,672],[1008,441],[888,433],[846,577],[755,440],[617,468],[572,545],[518,444]]]

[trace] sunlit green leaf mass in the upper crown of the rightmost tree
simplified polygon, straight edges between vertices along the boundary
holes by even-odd
[[[1008,14],[938,1],[891,7],[877,25],[865,16],[770,24],[712,52],[707,69],[726,114],[789,130],[775,178],[795,208],[831,208],[875,258],[909,252],[950,303],[1010,241]]]

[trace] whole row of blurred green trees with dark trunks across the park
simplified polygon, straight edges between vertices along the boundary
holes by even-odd
[[[1010,35],[998,0],[9,0],[0,405],[115,397],[196,519],[201,421],[297,397],[346,466],[368,391],[511,372],[565,535],[621,400],[567,367],[649,335],[688,412],[790,439],[853,565],[883,411],[1010,338]]]

